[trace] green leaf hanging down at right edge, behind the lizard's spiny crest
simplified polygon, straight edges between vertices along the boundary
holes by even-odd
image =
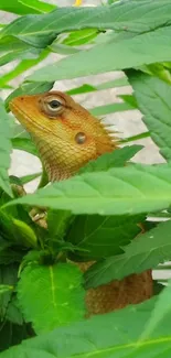
[[[142,118],[160,153],[171,160],[171,86],[141,73],[128,73]]]

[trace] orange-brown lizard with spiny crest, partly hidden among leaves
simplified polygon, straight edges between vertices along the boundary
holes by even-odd
[[[90,160],[118,148],[115,132],[67,94],[19,96],[11,100],[10,109],[32,135],[50,182],[70,178]],[[85,272],[93,262],[76,264]],[[151,295],[152,276],[148,270],[87,290],[86,306],[88,315],[103,314]]]

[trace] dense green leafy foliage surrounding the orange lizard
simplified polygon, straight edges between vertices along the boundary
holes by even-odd
[[[0,101],[0,356],[170,357],[170,284],[153,280],[149,301],[88,319],[84,299],[89,288],[171,260],[171,1],[58,8],[40,0],[1,0],[0,10],[17,14],[0,25],[0,65],[18,59],[0,78],[1,89],[10,89]],[[65,58],[32,68],[12,88],[13,78],[52,53]],[[126,147],[67,181],[44,187],[44,172],[9,176],[13,149],[39,156],[9,113],[11,98],[50,90],[58,79],[118,69],[119,79],[85,83],[68,94],[131,85],[132,95],[120,96],[121,102],[92,112],[100,117],[139,109],[146,132],[124,139]],[[142,149],[131,142],[147,137],[163,164],[131,163]],[[22,195],[22,185],[40,176],[35,193]],[[38,206],[47,209],[47,229],[30,216]],[[143,223],[145,232],[137,223]],[[96,263],[83,274],[71,258]]]

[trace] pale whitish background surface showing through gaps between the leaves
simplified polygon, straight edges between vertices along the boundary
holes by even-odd
[[[8,1],[8,0],[7,0]],[[65,6],[72,6],[74,0],[46,0],[46,2],[51,2],[61,7],[65,7]],[[83,4],[100,4],[100,0],[83,0]],[[7,12],[2,12],[0,11],[0,23],[8,23],[10,22],[12,19],[14,19],[13,14],[7,13]],[[47,59],[45,59],[43,63],[41,63],[40,66],[43,66],[45,64],[49,63],[53,63],[56,62],[58,59],[61,59],[62,56],[57,55],[57,54],[53,54],[51,56],[49,56]],[[13,66],[17,64],[17,62],[14,63],[10,63],[9,65],[6,65],[3,67],[0,67],[0,75],[4,74],[4,72],[8,72],[9,69],[12,69]],[[35,68],[35,67],[34,67]],[[36,66],[38,68],[38,66]],[[33,72],[33,69],[28,70],[24,76],[26,77],[29,74],[31,74]],[[57,82],[55,84],[55,89],[65,91],[68,88],[73,88],[73,87],[77,87],[81,86],[84,83],[89,83],[92,85],[101,83],[101,82],[106,82],[106,80],[110,80],[114,79],[116,77],[119,77],[121,73],[108,73],[105,75],[98,75],[98,76],[89,76],[89,77],[85,77],[85,78],[76,78],[76,79],[72,79],[72,80],[63,80],[63,82]],[[22,83],[22,80],[24,79],[24,76],[19,76],[17,77],[14,80],[11,82],[11,84],[13,86],[18,86]],[[122,88],[122,89],[108,89],[108,90],[101,90],[98,93],[93,93],[93,94],[86,94],[86,95],[78,95],[75,96],[75,99],[83,106],[85,106],[86,108],[93,108],[93,107],[97,107],[97,106],[101,106],[105,104],[110,104],[114,101],[119,101],[119,99],[117,98],[117,94],[121,94],[121,93],[130,93],[131,89],[128,88]],[[2,90],[0,96],[2,98],[6,98],[9,95],[9,90]],[[105,120],[109,123],[114,123],[116,127],[116,130],[120,132],[120,137],[125,138],[125,137],[129,137],[129,135],[135,135],[140,133],[141,131],[146,131],[146,126],[142,123],[141,121],[141,115],[139,113],[139,111],[127,111],[127,112],[122,112],[122,113],[114,113],[114,115],[109,115],[105,117]],[[159,163],[162,161],[162,158],[159,154],[158,148],[152,143],[152,141],[150,139],[145,139],[145,140],[139,140],[136,141],[136,143],[140,143],[142,145],[145,145],[145,149],[142,149],[140,151],[140,153],[138,153],[135,156],[135,161],[138,162],[142,162],[142,163]],[[31,173],[36,173],[40,171],[41,169],[41,164],[39,162],[39,160],[31,155],[28,154],[25,152],[21,152],[21,151],[14,151],[11,155],[11,169],[10,169],[10,174],[13,175],[26,175],[26,174],[31,174]],[[38,184],[38,181],[34,181],[30,184],[26,185],[26,189],[29,192],[32,192],[35,187],[35,185]],[[167,272],[168,274],[168,272]],[[158,273],[158,278],[162,278],[163,273],[161,272],[160,274]],[[164,272],[164,276],[165,276],[165,272]]]

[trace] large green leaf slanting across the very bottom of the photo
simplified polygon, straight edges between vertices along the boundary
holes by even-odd
[[[170,302],[169,297],[167,303],[168,301]],[[75,356],[169,358],[171,354],[170,311],[163,315],[161,324],[156,326],[146,340],[139,339],[149,317],[156,312],[156,304],[158,306],[158,300],[152,299],[118,312],[92,317],[70,327],[57,328],[46,335],[23,340],[20,346],[2,352],[1,358],[40,356],[42,358]]]

